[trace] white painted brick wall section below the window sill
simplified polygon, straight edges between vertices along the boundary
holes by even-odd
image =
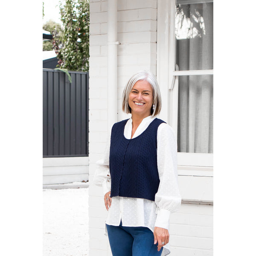
[[[202,204],[181,204],[170,217],[172,256],[212,256],[213,207]]]

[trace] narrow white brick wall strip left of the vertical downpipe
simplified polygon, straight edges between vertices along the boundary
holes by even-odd
[[[89,182],[107,138],[107,1],[90,0]],[[89,255],[108,252],[102,188],[89,187]]]

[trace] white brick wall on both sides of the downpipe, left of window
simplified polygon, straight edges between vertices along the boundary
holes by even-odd
[[[90,1],[90,78],[89,78],[89,181],[95,162],[102,157],[107,138],[107,18],[108,1]],[[156,74],[157,0],[119,0],[117,16],[117,108],[122,113],[122,90],[138,70]],[[106,210],[102,188],[89,188],[89,255],[111,255],[105,233]]]

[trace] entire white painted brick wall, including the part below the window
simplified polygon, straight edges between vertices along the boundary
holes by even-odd
[[[89,181],[102,158],[107,131],[107,8],[108,1],[90,0]],[[118,0],[117,120],[122,90],[138,70],[156,74],[157,0]],[[111,256],[105,233],[107,211],[102,188],[89,187],[89,256]],[[212,256],[212,206],[182,204],[171,216],[172,256]]]

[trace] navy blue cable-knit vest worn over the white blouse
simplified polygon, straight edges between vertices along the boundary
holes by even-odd
[[[134,139],[126,139],[124,128],[127,121],[115,123],[111,131],[111,197],[154,201],[160,183],[157,170],[157,128],[164,121],[156,118],[142,134]]]

